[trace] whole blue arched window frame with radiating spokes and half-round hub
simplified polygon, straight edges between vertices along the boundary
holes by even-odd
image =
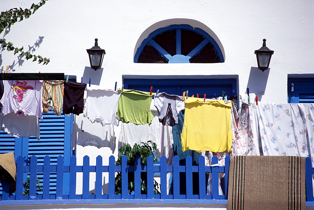
[[[181,29],[190,30],[197,34],[202,35],[205,39],[195,47],[188,55],[181,55]],[[159,34],[162,34],[166,31],[176,30],[176,55],[171,56],[166,50],[164,50],[160,45],[158,45],[153,38]],[[143,40],[141,45],[138,47],[135,55],[134,55],[134,63],[138,62],[138,57],[141,55],[144,47],[149,44],[153,46],[161,56],[165,57],[169,61],[169,63],[189,63],[189,59],[192,58],[194,55],[197,55],[207,43],[210,42],[214,46],[214,50],[219,57],[219,62],[225,62],[224,56],[221,52],[221,49],[217,42],[203,29],[194,28],[187,24],[180,24],[180,25],[170,25],[165,28],[159,28],[149,34],[147,38]]]

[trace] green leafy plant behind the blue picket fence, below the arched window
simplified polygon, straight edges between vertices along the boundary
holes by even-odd
[[[157,163],[157,158],[154,156],[153,151],[156,151],[156,143],[148,141],[147,143],[141,142],[140,144],[134,144],[133,148],[130,144],[124,144],[119,148],[120,155],[116,161],[116,165],[121,165],[122,156],[126,155],[128,158],[127,164],[134,165],[136,156],[141,158],[141,165],[147,165],[147,157],[152,155],[154,162]],[[121,194],[122,175],[121,172],[117,172],[115,179],[115,194]],[[154,194],[160,194],[159,184],[154,180]],[[128,192],[134,191],[134,172],[128,173]],[[141,194],[147,194],[147,172],[141,172]]]

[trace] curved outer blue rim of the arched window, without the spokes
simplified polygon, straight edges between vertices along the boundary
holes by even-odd
[[[191,25],[180,24],[180,25],[170,25],[167,27],[159,28],[159,29],[156,29],[155,31],[153,31],[152,33],[150,33],[148,35],[148,37],[142,41],[141,45],[136,50],[136,53],[134,55],[134,63],[138,62],[139,55],[142,53],[144,47],[149,43],[149,41],[151,39],[153,39],[155,36],[165,32],[165,31],[171,31],[171,30],[176,30],[176,29],[191,30],[193,32],[201,34],[203,37],[205,37],[205,39],[208,39],[210,41],[210,43],[214,46],[214,50],[215,50],[217,56],[219,57],[219,62],[220,63],[225,62],[224,56],[222,54],[222,50],[220,49],[217,42],[207,32],[205,32],[203,29],[195,28]]]

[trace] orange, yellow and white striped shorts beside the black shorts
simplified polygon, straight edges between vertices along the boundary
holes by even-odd
[[[55,115],[60,116],[63,106],[64,81],[44,80],[42,82],[42,105],[44,113],[49,113],[50,107]]]

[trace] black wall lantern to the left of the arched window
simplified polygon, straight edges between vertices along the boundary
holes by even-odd
[[[97,41],[98,39],[95,39],[95,46],[86,50],[89,55],[90,67],[95,71],[101,68],[102,60],[106,54],[105,50],[98,46]]]

